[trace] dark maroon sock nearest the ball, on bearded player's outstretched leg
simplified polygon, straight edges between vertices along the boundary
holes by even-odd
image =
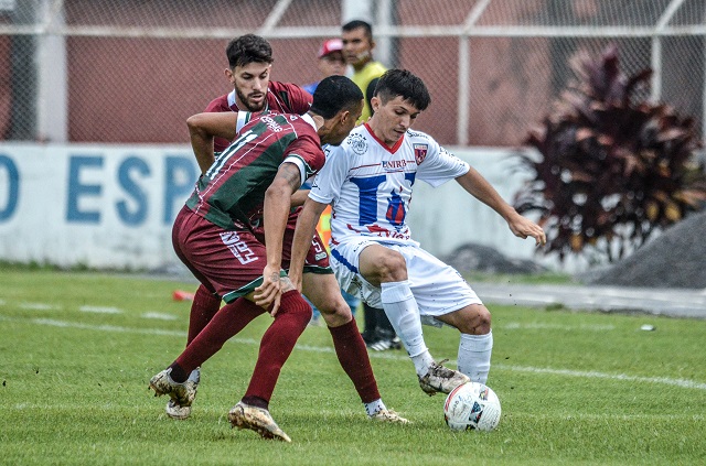
[[[333,337],[333,347],[341,367],[349,375],[363,403],[378,400],[377,382],[365,349],[365,342],[357,329],[355,317],[340,327],[329,327]]]

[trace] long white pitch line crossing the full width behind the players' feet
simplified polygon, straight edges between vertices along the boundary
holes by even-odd
[[[75,322],[65,322],[65,321],[56,321],[53,318],[13,318],[13,317],[4,317],[0,315],[0,321],[6,322],[31,322],[39,325],[50,325],[54,327],[63,327],[63,328],[82,328],[87,330],[99,330],[99,332],[117,332],[117,333],[131,333],[131,334],[143,334],[143,335],[168,335],[168,336],[179,336],[185,337],[186,333],[182,330],[163,330],[159,328],[130,328],[130,327],[120,327],[116,325],[89,325],[89,324],[81,324]],[[239,343],[244,345],[259,345],[260,342],[253,338],[231,338],[228,342]],[[332,353],[333,348],[330,347],[321,347],[321,346],[310,346],[310,345],[297,345],[298,349],[304,351],[313,351],[313,353]],[[370,357],[373,359],[396,359],[396,360],[406,360],[407,356],[402,355],[393,355],[389,353],[371,353]],[[451,361],[456,364],[456,361]],[[695,382],[693,380],[685,379],[670,379],[666,377],[638,377],[638,376],[628,376],[624,373],[605,373],[605,372],[596,372],[596,371],[579,371],[579,370],[568,370],[568,369],[552,369],[552,368],[541,368],[541,367],[524,367],[524,366],[509,366],[503,364],[493,365],[494,369],[500,370],[509,370],[516,372],[531,372],[531,373],[552,373],[557,376],[567,376],[567,377],[581,377],[588,379],[607,379],[607,380],[627,380],[631,382],[645,382],[645,383],[662,383],[667,386],[681,387],[681,388],[689,388],[696,390],[706,390],[706,383]]]

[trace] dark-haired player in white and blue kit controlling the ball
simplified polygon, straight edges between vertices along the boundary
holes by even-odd
[[[421,180],[436,187],[456,180],[501,215],[515,236],[533,237],[537,245],[546,237],[468,163],[430,136],[409,129],[429,102],[425,84],[408,71],[392,69],[381,77],[373,117],[340,147],[328,149],[299,217],[289,273],[299,286],[308,242],[319,215],[332,204],[331,267],[341,288],[385,310],[421,389],[435,394],[469,379],[484,383],[493,336],[490,312],[463,278],[411,239],[406,217],[414,183]],[[422,321],[461,333],[458,371],[435,362],[424,342]]]

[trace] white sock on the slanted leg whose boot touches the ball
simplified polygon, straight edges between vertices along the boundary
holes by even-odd
[[[434,359],[424,342],[419,307],[409,289],[409,282],[386,282],[381,283],[381,288],[385,314],[415,364],[417,375],[424,376]]]

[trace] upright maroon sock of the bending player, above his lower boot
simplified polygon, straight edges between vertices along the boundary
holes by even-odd
[[[257,397],[269,402],[279,372],[310,319],[311,306],[298,291],[282,294],[275,321],[263,335],[257,364],[244,400]]]

